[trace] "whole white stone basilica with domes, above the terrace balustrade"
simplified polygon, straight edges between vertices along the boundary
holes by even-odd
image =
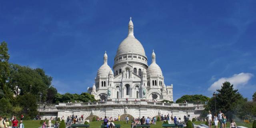
[[[105,52],[104,62],[98,69],[95,83],[88,93],[98,100],[169,100],[173,101],[172,84],[166,86],[161,68],[156,64],[156,54],[148,59],[140,41],[134,36],[132,19],[128,24],[128,36],[120,43],[114,58],[113,70],[108,66]]]

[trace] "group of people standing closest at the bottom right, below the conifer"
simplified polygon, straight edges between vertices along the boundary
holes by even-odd
[[[222,113],[221,111],[219,111],[219,113],[215,114],[214,116],[212,116],[211,112],[209,111],[206,119],[208,121],[209,128],[212,128],[212,120],[214,121],[215,128],[218,127],[218,123],[220,123],[220,128],[226,128],[227,118],[225,114]],[[233,119],[230,120],[230,128],[236,128],[236,123],[234,122]]]

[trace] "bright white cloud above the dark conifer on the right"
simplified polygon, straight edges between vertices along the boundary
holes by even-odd
[[[230,82],[230,84],[234,85],[234,88],[237,89],[240,86],[244,86],[248,83],[248,81],[253,77],[253,74],[250,73],[240,73],[240,74],[234,74],[232,77],[229,78],[220,78],[219,80],[215,81],[210,88],[208,88],[208,91],[216,91],[216,89],[220,89],[222,86],[222,83],[225,81]]]

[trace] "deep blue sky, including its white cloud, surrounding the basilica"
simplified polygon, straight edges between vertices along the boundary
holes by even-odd
[[[256,91],[256,1],[4,0],[0,41],[10,62],[43,68],[60,93],[87,92],[107,51],[113,66],[128,34],[152,49],[174,100],[212,96],[228,80],[243,96]]]

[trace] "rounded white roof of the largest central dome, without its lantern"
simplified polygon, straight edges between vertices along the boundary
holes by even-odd
[[[116,56],[126,53],[134,53],[146,56],[142,44],[140,44],[140,42],[132,36],[128,36],[121,42],[116,52]]]

